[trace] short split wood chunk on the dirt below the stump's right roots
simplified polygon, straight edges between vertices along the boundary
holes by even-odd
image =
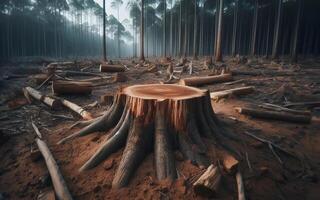
[[[221,181],[221,173],[217,167],[210,165],[193,184],[194,192],[205,197],[214,197]]]

